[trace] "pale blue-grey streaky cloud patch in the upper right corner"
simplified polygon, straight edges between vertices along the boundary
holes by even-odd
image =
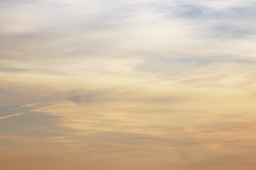
[[[201,36],[216,40],[232,40],[255,35],[255,4],[226,8],[214,8],[206,4],[194,1],[178,2],[176,6],[165,9],[164,12],[168,13],[169,19],[179,18],[191,25],[191,31],[197,38]]]

